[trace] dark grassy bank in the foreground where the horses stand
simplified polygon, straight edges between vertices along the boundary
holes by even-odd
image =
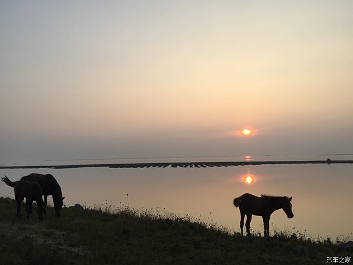
[[[164,210],[70,207],[56,218],[49,208],[40,222],[34,207],[30,220],[22,216],[0,198],[1,264],[327,264],[326,256],[352,256],[330,240],[281,232],[270,242],[242,238]]]

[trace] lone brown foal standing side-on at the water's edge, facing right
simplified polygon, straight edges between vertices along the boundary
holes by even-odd
[[[293,218],[293,212],[291,211],[291,201],[292,197],[288,198],[286,196],[268,196],[261,195],[261,197],[245,193],[242,196],[235,198],[233,200],[234,206],[240,209],[240,230],[242,231],[243,236],[243,226],[244,226],[244,217],[247,216],[247,222],[245,227],[247,229],[247,235],[250,236],[250,222],[253,215],[262,216],[264,221],[264,235],[269,237],[269,223],[271,214],[280,208],[284,210],[284,213],[288,218]]]

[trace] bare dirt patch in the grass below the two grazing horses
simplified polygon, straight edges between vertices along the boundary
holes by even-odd
[[[67,232],[48,229],[41,223],[26,225],[0,222],[0,232],[19,239],[30,238],[35,244],[45,244],[61,251],[76,252],[80,255],[89,253],[88,249],[83,246],[68,244]]]

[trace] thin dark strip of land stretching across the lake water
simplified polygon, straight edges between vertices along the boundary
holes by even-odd
[[[241,161],[241,162],[170,162],[170,163],[125,163],[125,164],[81,164],[47,166],[0,166],[0,169],[76,169],[76,168],[207,168],[236,167],[277,164],[353,164],[353,160],[313,161]]]

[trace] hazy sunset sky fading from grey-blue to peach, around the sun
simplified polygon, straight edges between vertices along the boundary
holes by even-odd
[[[0,40],[0,163],[353,153],[352,1],[1,1]]]

